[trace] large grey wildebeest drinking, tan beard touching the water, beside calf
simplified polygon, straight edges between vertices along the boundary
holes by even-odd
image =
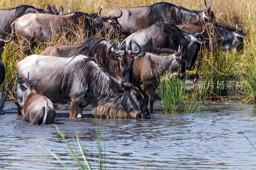
[[[89,104],[100,117],[150,118],[140,91],[118,83],[92,57],[30,55],[18,63],[17,72],[21,78],[30,72],[30,81],[41,78],[35,90],[52,102],[70,101],[70,118]]]

